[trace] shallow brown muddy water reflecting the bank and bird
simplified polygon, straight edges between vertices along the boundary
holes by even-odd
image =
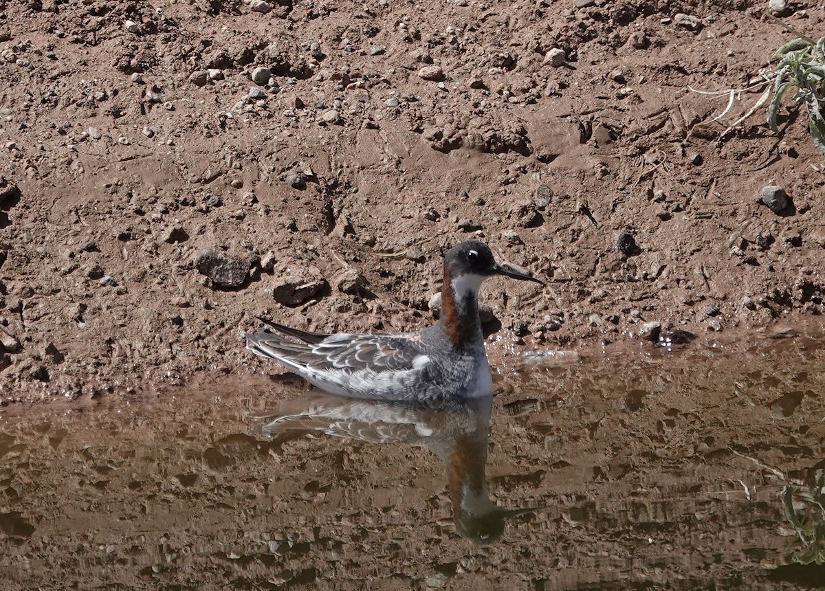
[[[4,409],[0,578],[4,589],[823,585],[823,342],[510,367],[491,409],[336,404],[265,377]]]

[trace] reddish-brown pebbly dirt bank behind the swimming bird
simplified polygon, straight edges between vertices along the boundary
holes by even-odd
[[[3,404],[255,371],[255,315],[420,327],[466,237],[549,282],[488,284],[493,357],[820,314],[804,115],[689,89],[763,80],[767,5],[0,0]]]

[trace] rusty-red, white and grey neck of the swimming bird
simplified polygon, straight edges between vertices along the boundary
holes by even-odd
[[[479,288],[483,277],[464,274],[452,278],[444,270],[444,287],[441,288],[441,330],[461,348],[483,340],[479,320]]]

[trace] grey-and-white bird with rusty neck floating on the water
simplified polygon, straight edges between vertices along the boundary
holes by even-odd
[[[444,257],[441,317],[414,332],[320,334],[258,318],[247,349],[277,362],[324,392],[388,401],[439,401],[487,396],[492,377],[479,319],[479,288],[503,275],[544,284],[499,265],[489,246],[468,240]]]

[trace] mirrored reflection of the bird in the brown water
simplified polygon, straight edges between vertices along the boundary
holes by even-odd
[[[485,469],[492,396],[462,401],[403,404],[309,392],[283,401],[262,434],[285,443],[324,433],[370,443],[404,443],[427,448],[446,464],[455,530],[476,544],[495,542],[508,518],[532,509],[504,509],[490,500]]]

